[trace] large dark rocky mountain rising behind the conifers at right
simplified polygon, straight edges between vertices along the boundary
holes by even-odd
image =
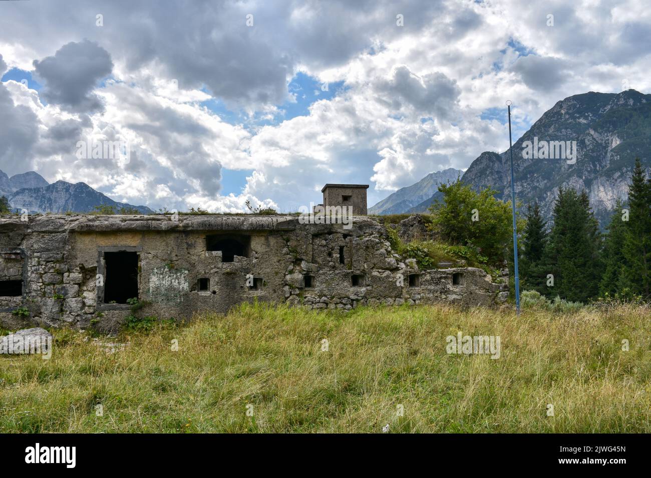
[[[575,158],[568,155],[574,146]],[[603,226],[617,198],[626,200],[635,157],[651,168],[651,95],[628,90],[565,98],[513,144],[512,152],[518,202],[537,200],[549,219],[559,187],[585,189]],[[492,187],[508,200],[509,151],[481,153],[462,181],[477,190]],[[411,212],[424,212],[434,199]]]

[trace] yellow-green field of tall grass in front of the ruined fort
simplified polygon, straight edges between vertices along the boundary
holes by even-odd
[[[0,357],[0,432],[651,432],[650,330],[635,306],[264,304],[124,335],[115,353],[60,330],[50,360]],[[500,336],[500,358],[447,354],[459,331]]]

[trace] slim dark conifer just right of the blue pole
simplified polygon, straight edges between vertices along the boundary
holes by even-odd
[[[542,267],[547,245],[546,221],[540,215],[540,206],[534,203],[527,206],[527,224],[522,236],[521,275],[523,287],[542,290],[546,282],[545,268]]]

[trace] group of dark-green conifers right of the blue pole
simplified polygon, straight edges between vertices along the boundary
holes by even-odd
[[[618,200],[605,233],[585,191],[559,189],[547,230],[530,204],[518,255],[522,289],[546,297],[651,300],[651,177],[635,159],[628,200]]]

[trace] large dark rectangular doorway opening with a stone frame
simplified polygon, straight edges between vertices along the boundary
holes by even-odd
[[[104,252],[104,303],[126,304],[138,297],[138,253]]]

